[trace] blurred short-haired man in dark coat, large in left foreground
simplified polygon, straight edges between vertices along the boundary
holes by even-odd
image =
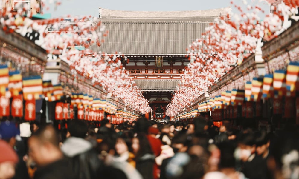
[[[77,179],[59,148],[53,126],[39,128],[28,140],[29,156],[37,164],[34,179]]]

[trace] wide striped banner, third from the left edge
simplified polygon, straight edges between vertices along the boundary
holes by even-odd
[[[24,100],[40,99],[42,95],[41,76],[29,76],[23,78]]]

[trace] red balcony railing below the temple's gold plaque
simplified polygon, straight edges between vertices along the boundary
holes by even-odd
[[[142,69],[142,70],[126,70],[127,72],[129,72],[130,74],[153,74],[153,75],[157,75],[157,74],[168,74],[168,75],[173,75],[173,74],[183,74],[184,71],[181,69]]]

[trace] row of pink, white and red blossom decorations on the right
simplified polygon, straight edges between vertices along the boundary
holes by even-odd
[[[241,64],[252,53],[262,53],[262,39],[270,40],[290,27],[289,17],[298,21],[295,16],[298,5],[298,1],[284,0],[278,5],[278,12],[266,15],[264,21],[260,21],[257,15],[263,13],[260,7],[248,5],[245,13],[240,6],[234,5],[241,16],[233,14],[234,21],[231,21],[229,14],[216,19],[206,28],[202,38],[196,39],[186,49],[191,63],[186,67],[177,91],[167,105],[166,115],[177,115],[207,92],[232,67]],[[237,86],[244,86],[244,81],[238,80]]]

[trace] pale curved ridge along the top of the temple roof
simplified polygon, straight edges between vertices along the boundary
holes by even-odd
[[[226,16],[231,13],[231,6],[209,10],[182,10],[182,11],[131,11],[111,10],[99,7],[102,18],[190,18],[207,16]]]

